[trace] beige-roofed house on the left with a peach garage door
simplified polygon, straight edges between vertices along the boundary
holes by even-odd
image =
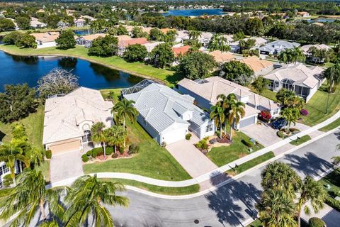
[[[46,99],[43,145],[52,154],[86,152],[94,145],[91,126],[96,122],[112,126],[112,107],[112,102],[105,101],[101,92],[86,87]]]

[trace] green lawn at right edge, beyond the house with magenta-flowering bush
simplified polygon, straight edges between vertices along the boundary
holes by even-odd
[[[329,96],[329,105],[327,112],[327,99]],[[312,99],[305,104],[305,109],[309,112],[308,116],[303,117],[303,123],[307,126],[315,126],[318,123],[327,120],[327,118],[336,114],[340,109],[340,86],[336,88],[336,92],[329,94],[327,87],[322,85],[315,92]]]

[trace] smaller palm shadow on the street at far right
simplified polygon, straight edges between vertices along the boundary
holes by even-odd
[[[310,152],[305,153],[302,157],[293,154],[286,155],[285,160],[288,160],[291,167],[297,170],[297,172],[311,177],[317,177],[321,172],[325,172],[334,167],[331,162],[328,162],[327,160],[324,160]]]

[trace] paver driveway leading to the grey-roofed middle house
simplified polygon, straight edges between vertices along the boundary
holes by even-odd
[[[217,168],[217,165],[193,145],[198,140],[196,135],[192,135],[190,140],[181,140],[166,146],[169,153],[191,177],[198,177]]]

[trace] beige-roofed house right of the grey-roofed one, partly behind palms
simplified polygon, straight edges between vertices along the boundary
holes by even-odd
[[[257,116],[261,111],[270,111],[271,116],[278,116],[280,104],[271,99],[267,99],[259,94],[251,92],[249,88],[235,84],[222,77],[208,77],[205,79],[182,79],[176,85],[176,91],[181,94],[188,94],[195,98],[195,103],[203,109],[210,109],[217,103],[219,94],[235,94],[239,101],[244,102],[245,116],[234,125],[234,128],[244,128],[257,122]]]

